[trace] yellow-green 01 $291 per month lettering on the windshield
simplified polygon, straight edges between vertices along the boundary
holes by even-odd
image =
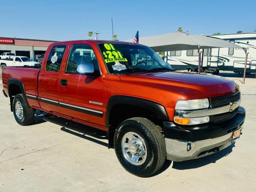
[[[116,62],[116,61],[127,61],[126,58],[123,58],[120,51],[116,50],[112,44],[104,44],[104,55],[105,62]]]

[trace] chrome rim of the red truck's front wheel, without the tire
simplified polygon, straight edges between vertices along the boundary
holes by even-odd
[[[133,165],[142,165],[147,157],[144,139],[135,132],[127,132],[121,141],[122,153]]]

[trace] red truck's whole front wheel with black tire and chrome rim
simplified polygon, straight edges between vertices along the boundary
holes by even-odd
[[[139,177],[157,173],[166,160],[164,137],[146,118],[134,117],[121,122],[114,136],[114,146],[121,165]]]

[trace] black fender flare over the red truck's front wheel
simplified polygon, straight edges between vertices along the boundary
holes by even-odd
[[[157,102],[147,100],[147,99],[138,98],[138,97],[114,95],[114,96],[110,97],[108,105],[106,107],[105,123],[106,123],[106,127],[108,127],[108,128],[109,128],[109,119],[110,119],[111,109],[113,108],[113,106],[115,106],[117,104],[127,104],[127,105],[139,106],[143,109],[154,112],[157,115],[158,119],[161,119],[163,121],[169,120],[169,117],[167,115],[167,112],[166,112],[164,106]]]

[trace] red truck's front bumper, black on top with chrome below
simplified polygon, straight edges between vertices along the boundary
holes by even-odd
[[[167,159],[185,161],[204,157],[232,144],[232,133],[243,128],[245,110],[241,106],[233,118],[218,124],[179,126],[163,123]]]

